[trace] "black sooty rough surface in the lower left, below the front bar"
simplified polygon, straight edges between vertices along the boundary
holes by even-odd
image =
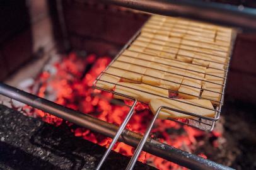
[[[65,125],[64,125],[65,124]],[[95,169],[105,148],[0,105],[0,169]],[[129,157],[112,152],[102,169],[125,169]],[[137,162],[135,169],[154,169]]]

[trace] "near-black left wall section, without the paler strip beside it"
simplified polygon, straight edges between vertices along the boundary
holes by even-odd
[[[31,56],[32,37],[26,1],[1,1],[0,23],[1,81]]]

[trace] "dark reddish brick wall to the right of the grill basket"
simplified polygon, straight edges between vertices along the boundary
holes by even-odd
[[[231,98],[256,103],[256,33],[238,35],[226,92]]]

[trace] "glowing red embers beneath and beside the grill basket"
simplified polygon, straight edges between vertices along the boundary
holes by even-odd
[[[69,54],[51,65],[54,71],[43,71],[37,77],[35,84],[40,84],[37,95],[42,98],[50,98],[59,105],[72,108],[73,110],[79,110],[84,114],[90,114],[100,120],[120,125],[127,115],[129,107],[125,105],[112,105],[107,99],[112,98],[111,93],[92,88],[93,81],[107,67],[110,61],[110,57],[100,57],[97,59],[95,55],[89,55],[86,58],[82,58],[76,54]],[[93,66],[90,71],[83,75],[84,68],[86,66],[88,67],[89,64]],[[34,87],[30,88],[33,89]],[[103,98],[95,94],[100,94]],[[125,104],[131,105],[131,102],[125,101]],[[52,123],[56,126],[61,125],[61,123],[67,123],[75,136],[83,137],[83,139],[90,140],[103,147],[108,147],[112,141],[112,139],[91,132],[91,130],[86,128],[72,128],[72,123],[64,122],[60,118],[33,109],[30,106],[23,107],[23,110],[27,115],[40,116],[45,122]],[[135,113],[126,128],[133,132],[143,134],[152,118],[153,115],[148,106],[137,103]],[[204,136],[206,135],[201,130],[170,120],[157,120],[151,133],[153,139],[186,150],[187,152],[193,152],[197,146],[202,145],[204,143]],[[221,134],[212,132],[208,133],[208,135],[218,138]],[[212,145],[218,146],[218,143],[213,141]],[[117,142],[113,150],[125,156],[132,156],[135,149],[122,142]],[[206,158],[203,153],[199,155]],[[146,152],[141,153],[139,161],[148,163],[158,169],[185,169]]]

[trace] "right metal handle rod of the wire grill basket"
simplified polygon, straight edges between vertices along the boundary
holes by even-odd
[[[141,150],[143,150],[144,145],[146,144],[146,141],[148,139],[149,133],[151,132],[151,129],[153,128],[154,122],[156,122],[156,118],[158,118],[158,115],[160,113],[161,107],[158,108],[156,111],[156,115],[154,115],[153,120],[151,120],[143,139],[139,142],[139,145],[137,146],[136,150],[134,151],[134,155],[132,156],[131,160],[129,161],[129,164],[126,167],[126,170],[132,170],[137,162],[137,158],[139,157],[139,154],[141,154]]]

